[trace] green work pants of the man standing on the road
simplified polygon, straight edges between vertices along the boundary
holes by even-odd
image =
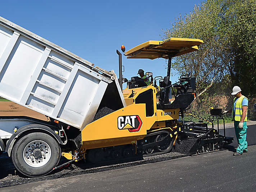
[[[237,152],[243,153],[244,151],[247,151],[247,141],[246,141],[246,130],[247,130],[247,125],[246,121],[243,122],[243,128],[240,129],[238,127],[239,121],[234,121],[234,127],[236,131],[236,137],[237,137]]]

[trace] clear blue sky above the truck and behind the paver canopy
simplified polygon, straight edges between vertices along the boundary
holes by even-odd
[[[1,1],[0,16],[118,74],[120,46],[131,49],[148,40],[161,40],[179,14],[189,14],[200,0],[161,1]],[[166,76],[164,59],[126,59],[130,79],[138,69]],[[172,71],[173,72],[173,71]],[[177,81],[177,76],[171,77]],[[125,83],[126,84],[126,83]]]

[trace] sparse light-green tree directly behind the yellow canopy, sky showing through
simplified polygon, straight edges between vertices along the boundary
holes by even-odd
[[[226,69],[223,52],[227,46],[223,44],[218,31],[220,12],[217,1],[202,2],[189,15],[176,18],[172,28],[164,31],[164,39],[181,37],[204,41],[198,51],[174,58],[172,63],[172,68],[179,74],[193,72],[197,79],[198,96],[211,87],[214,81],[219,81]]]

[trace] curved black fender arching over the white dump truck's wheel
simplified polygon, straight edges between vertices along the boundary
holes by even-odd
[[[61,138],[58,134],[56,134],[52,129],[50,129],[49,127],[45,126],[45,125],[40,125],[40,124],[29,124],[29,125],[25,125],[23,127],[20,127],[18,129],[17,132],[13,133],[13,135],[10,137],[9,141],[6,144],[5,147],[5,151],[8,152],[8,155],[11,156],[11,152],[12,152],[12,148],[13,148],[13,144],[14,142],[17,140],[17,138],[28,132],[28,131],[32,131],[32,132],[40,132],[40,131],[44,131],[47,132],[50,136],[52,136],[53,138],[55,138],[56,141],[59,142],[60,145],[63,145],[63,142],[61,141]]]

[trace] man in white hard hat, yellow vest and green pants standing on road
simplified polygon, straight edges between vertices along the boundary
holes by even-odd
[[[234,121],[234,127],[236,131],[236,137],[238,142],[238,147],[234,156],[242,155],[247,153],[247,141],[246,141],[246,130],[247,130],[247,108],[248,99],[241,94],[241,88],[238,86],[233,87],[233,92],[231,95],[236,96],[233,101],[232,110],[223,111],[225,113],[232,113],[232,121]]]

